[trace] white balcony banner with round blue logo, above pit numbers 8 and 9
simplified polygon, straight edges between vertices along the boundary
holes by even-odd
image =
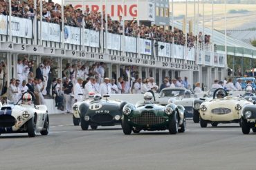
[[[64,43],[80,45],[80,28],[64,26]]]

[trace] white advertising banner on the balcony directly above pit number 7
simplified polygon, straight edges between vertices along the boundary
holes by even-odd
[[[40,39],[40,22],[38,21],[38,38]],[[60,25],[56,23],[42,22],[42,39],[60,43]]]

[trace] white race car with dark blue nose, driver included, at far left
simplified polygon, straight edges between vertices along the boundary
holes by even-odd
[[[18,102],[1,107],[0,134],[28,133],[28,136],[35,137],[40,132],[48,135],[49,117],[46,105],[34,105],[35,96],[31,92],[22,94],[21,99],[20,104]]]

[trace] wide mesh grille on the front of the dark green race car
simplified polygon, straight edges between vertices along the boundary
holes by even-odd
[[[156,116],[153,112],[143,111],[137,118],[131,118],[131,122],[138,125],[157,125],[165,122],[165,118]]]

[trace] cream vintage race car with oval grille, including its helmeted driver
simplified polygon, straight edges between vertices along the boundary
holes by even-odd
[[[219,123],[241,123],[241,109],[248,104],[251,103],[244,98],[228,96],[225,89],[216,89],[212,100],[200,105],[200,125],[207,127],[211,123],[217,127]]]

